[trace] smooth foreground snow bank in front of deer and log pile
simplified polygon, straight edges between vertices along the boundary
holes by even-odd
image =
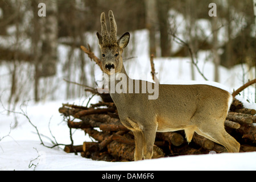
[[[0,170],[256,170],[256,152],[186,155],[139,162],[102,162],[67,154],[57,148],[47,148],[40,142],[30,140],[1,142],[0,146]]]

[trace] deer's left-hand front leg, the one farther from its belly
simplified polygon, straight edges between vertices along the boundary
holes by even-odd
[[[135,138],[135,152],[134,152],[134,160],[142,160],[143,158],[143,133],[142,131],[134,130],[133,131]]]

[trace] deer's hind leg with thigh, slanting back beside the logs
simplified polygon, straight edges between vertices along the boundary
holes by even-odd
[[[240,143],[229,135],[224,127],[224,122],[211,119],[212,122],[204,122],[196,129],[196,133],[224,146],[228,152],[239,152]],[[208,120],[209,121],[209,120]]]

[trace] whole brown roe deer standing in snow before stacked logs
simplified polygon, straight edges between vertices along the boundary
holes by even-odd
[[[101,14],[101,34],[97,32],[98,43],[102,53],[102,68],[111,79],[112,75],[122,73],[129,83],[123,85],[126,92],[110,92],[117,106],[119,118],[123,125],[133,131],[135,137],[134,160],[151,159],[156,131],[167,132],[185,130],[188,142],[196,132],[213,142],[226,147],[229,152],[239,152],[240,143],[230,136],[224,128],[224,121],[233,100],[231,94],[210,85],[159,85],[159,96],[148,99],[148,93],[129,93],[129,86],[139,82],[152,84],[143,80],[133,80],[123,67],[122,52],[130,39],[126,32],[117,40],[117,24],[113,12],[109,11],[110,32],[106,26],[105,13]],[[120,80],[119,80],[120,81]],[[119,83],[118,79],[114,84]],[[109,88],[110,88],[109,81]]]

